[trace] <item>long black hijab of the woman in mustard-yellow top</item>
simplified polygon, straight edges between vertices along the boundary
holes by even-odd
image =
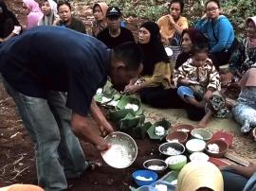
[[[163,61],[168,64],[170,60],[166,54],[163,44],[161,43],[159,26],[154,22],[148,21],[142,24],[140,28],[141,27],[145,27],[150,32],[149,43],[138,43],[144,54],[144,60],[142,61],[143,71],[141,74],[142,76],[151,76],[155,70],[155,63]]]

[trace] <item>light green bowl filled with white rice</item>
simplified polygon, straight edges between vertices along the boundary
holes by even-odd
[[[185,155],[171,156],[165,160],[165,163],[172,170],[180,170],[184,165],[187,164],[187,157]]]

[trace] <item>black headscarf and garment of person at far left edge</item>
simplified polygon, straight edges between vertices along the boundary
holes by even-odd
[[[0,8],[3,9],[3,12],[0,13],[0,38],[5,38],[13,30],[12,25],[9,26],[6,24],[6,21],[8,19],[12,20],[12,23],[14,24],[14,26],[21,26],[21,25],[18,22],[15,15],[11,11],[9,11],[9,9],[7,8],[7,5],[3,0],[0,0]]]

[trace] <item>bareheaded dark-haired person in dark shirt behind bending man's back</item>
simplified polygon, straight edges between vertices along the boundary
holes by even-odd
[[[82,23],[82,20],[72,16],[70,3],[67,1],[60,1],[58,3],[57,9],[60,19],[57,20],[54,25],[68,27],[70,29],[86,34],[86,29]]]

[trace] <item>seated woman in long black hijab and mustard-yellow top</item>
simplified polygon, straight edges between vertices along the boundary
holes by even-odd
[[[125,92],[139,92],[141,101],[150,104],[149,97],[171,87],[170,61],[161,43],[159,27],[154,22],[139,27],[138,44],[144,54],[141,78],[131,81]]]

